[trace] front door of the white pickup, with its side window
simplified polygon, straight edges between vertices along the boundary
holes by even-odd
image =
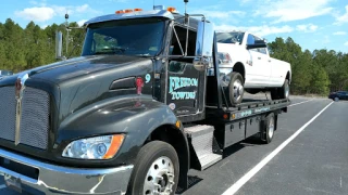
[[[247,44],[254,44],[254,40],[260,39],[251,34],[248,35]],[[266,48],[250,49],[252,65],[248,67],[247,77],[250,77],[248,87],[269,87],[271,82],[272,67]],[[249,65],[250,66],[250,65]]]

